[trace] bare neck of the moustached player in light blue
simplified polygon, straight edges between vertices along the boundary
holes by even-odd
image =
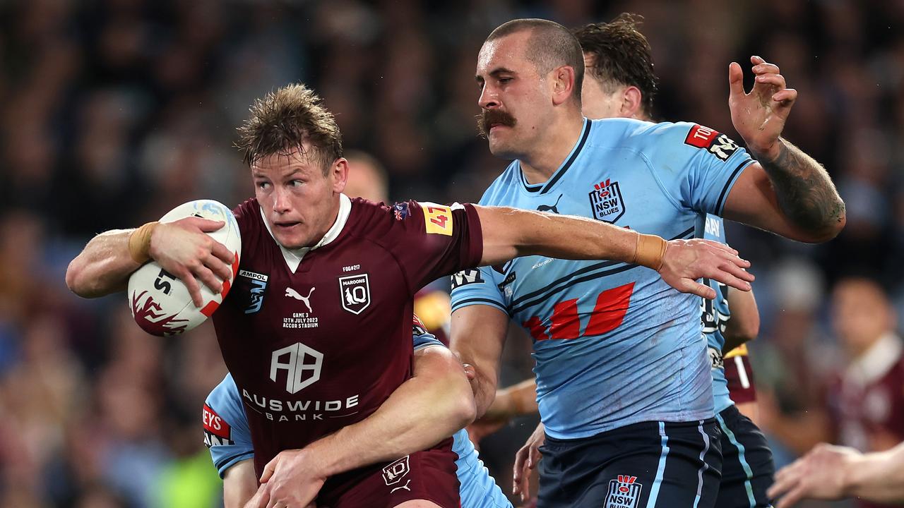
[[[547,127],[546,134],[534,145],[532,152],[518,158],[527,183],[549,180],[578,144],[583,128],[584,118],[580,115],[560,118]]]

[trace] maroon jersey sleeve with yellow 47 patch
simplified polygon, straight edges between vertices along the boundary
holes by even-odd
[[[473,268],[484,253],[477,211],[470,204],[397,202],[394,221],[381,239],[405,273],[411,294],[462,268]]]

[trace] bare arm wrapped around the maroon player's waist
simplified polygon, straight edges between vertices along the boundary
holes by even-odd
[[[445,347],[420,349],[413,377],[371,416],[274,457],[261,475],[264,485],[255,506],[266,508],[273,500],[304,506],[326,477],[432,447],[474,416],[474,397],[461,362]]]

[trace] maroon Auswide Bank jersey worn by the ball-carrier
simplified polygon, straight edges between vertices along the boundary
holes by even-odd
[[[483,253],[471,205],[392,207],[341,196],[325,239],[282,249],[258,202],[236,208],[241,263],[213,315],[258,473],[280,451],[360,421],[410,378],[412,297]]]

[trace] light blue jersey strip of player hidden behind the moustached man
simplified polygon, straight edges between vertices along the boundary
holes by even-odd
[[[725,224],[722,218],[707,214],[700,218],[697,228],[698,238],[706,240],[725,241]],[[703,299],[702,323],[703,334],[706,334],[706,343],[710,349],[710,362],[712,369],[712,400],[715,402],[716,413],[734,405],[729,395],[729,381],[725,379],[725,362],[722,359],[722,349],[725,347],[725,326],[731,317],[729,308],[728,287],[724,284],[706,279],[706,285],[716,290],[716,299]]]

